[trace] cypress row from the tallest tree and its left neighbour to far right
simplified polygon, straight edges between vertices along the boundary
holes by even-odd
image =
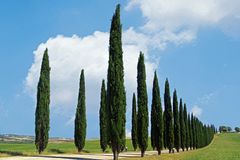
[[[112,18],[109,40],[109,61],[107,87],[102,81],[100,102],[100,145],[104,152],[109,146],[114,160],[125,147],[126,95],[122,61],[122,28],[120,23],[120,5],[117,5]],[[173,108],[168,79],[165,83],[164,112],[162,110],[158,78],[155,72],[151,107],[151,145],[161,154],[163,148],[173,152],[195,149],[209,144],[214,129],[203,125],[193,114],[187,113],[186,104],[180,99],[178,105],[177,91],[173,95]],[[143,157],[148,148],[148,94],[144,54],[140,52],[137,64],[137,96],[132,98],[132,145],[138,147]]]

